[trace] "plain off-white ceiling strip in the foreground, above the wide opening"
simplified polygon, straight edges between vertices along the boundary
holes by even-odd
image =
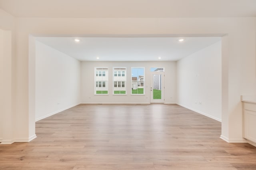
[[[0,0],[16,17],[191,18],[253,17],[256,0]]]

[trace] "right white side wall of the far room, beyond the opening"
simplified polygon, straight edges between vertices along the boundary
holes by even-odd
[[[177,104],[221,121],[221,42],[177,62]]]

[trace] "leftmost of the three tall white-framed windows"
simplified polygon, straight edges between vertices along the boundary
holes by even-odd
[[[108,94],[108,68],[95,67],[95,94]]]

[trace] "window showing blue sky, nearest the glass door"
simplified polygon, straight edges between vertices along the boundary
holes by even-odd
[[[144,67],[132,67],[132,95],[144,95]]]

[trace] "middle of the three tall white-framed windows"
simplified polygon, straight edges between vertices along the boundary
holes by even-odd
[[[113,93],[115,95],[126,94],[126,68],[113,67]]]

